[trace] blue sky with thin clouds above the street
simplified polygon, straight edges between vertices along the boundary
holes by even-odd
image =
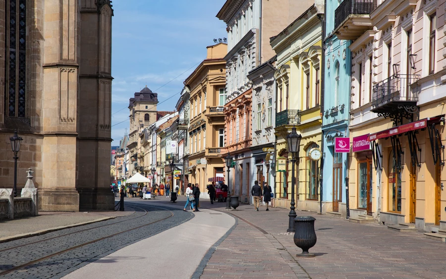
[[[128,100],[144,86],[165,101],[159,111],[175,109],[183,81],[206,58],[206,47],[226,37],[226,25],[216,17],[224,2],[113,0],[112,146],[128,130]]]

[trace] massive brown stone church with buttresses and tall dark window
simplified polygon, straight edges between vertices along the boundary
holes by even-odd
[[[1,0],[0,177],[23,138],[17,187],[32,168],[41,210],[112,210],[110,0]]]

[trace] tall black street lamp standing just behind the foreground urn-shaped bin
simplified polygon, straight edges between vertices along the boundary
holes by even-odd
[[[297,160],[297,169],[299,169],[299,149],[300,149],[300,140],[302,139],[301,134],[296,133],[296,127],[291,129],[291,133],[286,136],[286,140],[288,141],[288,152],[291,152],[291,207],[289,208],[289,222],[288,222],[288,232],[294,232],[294,218],[296,218],[296,212],[294,211],[295,203],[294,203],[294,187],[295,187],[295,177],[294,177],[294,164],[296,164]],[[299,177],[298,177],[299,178]]]

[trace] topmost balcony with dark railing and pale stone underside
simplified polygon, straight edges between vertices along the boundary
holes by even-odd
[[[370,13],[377,0],[343,0],[335,10],[335,34],[340,40],[356,40],[372,29]]]

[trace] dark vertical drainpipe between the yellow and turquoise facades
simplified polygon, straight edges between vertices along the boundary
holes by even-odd
[[[318,14],[318,18],[322,22],[322,63],[321,65],[324,65],[321,70],[321,118],[323,119],[324,115],[324,95],[325,95],[325,34],[326,34],[326,20],[325,15],[327,14],[327,0],[324,1],[324,14]],[[320,214],[322,214],[322,200],[324,196],[324,187],[323,187],[323,173],[324,173],[324,130],[322,130],[322,140],[321,140],[321,166],[319,167],[321,172],[319,174],[319,193],[320,193],[320,201],[319,201],[319,208],[320,208]]]

